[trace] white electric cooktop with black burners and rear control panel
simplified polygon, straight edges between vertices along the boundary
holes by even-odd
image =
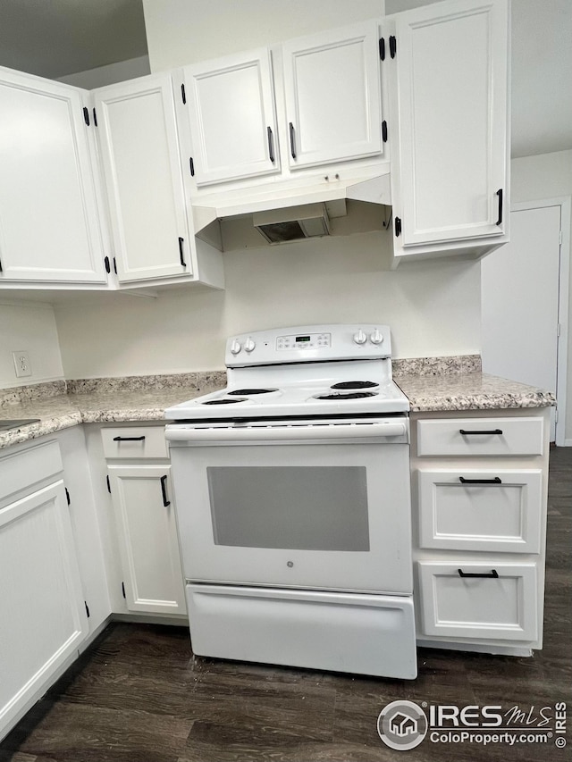
[[[228,386],[165,411],[169,420],[405,413],[385,325],[313,325],[227,341]]]

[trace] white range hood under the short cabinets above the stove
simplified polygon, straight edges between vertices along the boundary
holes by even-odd
[[[224,251],[384,230],[390,205],[387,172],[345,182],[319,177],[304,185],[282,180],[205,193],[192,210],[195,234]]]

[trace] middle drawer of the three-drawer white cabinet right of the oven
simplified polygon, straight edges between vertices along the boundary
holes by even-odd
[[[417,472],[419,546],[539,553],[540,469]]]

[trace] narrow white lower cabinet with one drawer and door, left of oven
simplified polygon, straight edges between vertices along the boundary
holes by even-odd
[[[186,615],[164,427],[101,433],[127,610]]]

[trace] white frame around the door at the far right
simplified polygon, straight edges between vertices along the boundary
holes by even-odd
[[[572,197],[520,201],[510,205],[511,212],[526,209],[540,209],[547,206],[560,207],[560,251],[559,251],[559,304],[556,354],[556,398],[558,400],[556,419],[556,444],[559,447],[572,447],[572,439],[566,438],[566,392],[568,384],[568,314],[570,290],[570,210]]]

